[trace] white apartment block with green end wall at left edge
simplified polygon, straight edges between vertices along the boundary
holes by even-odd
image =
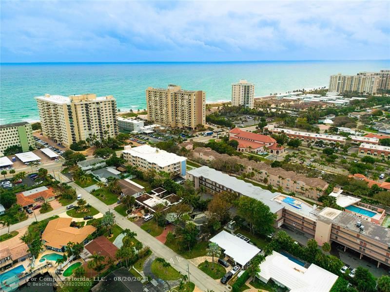
[[[33,129],[26,122],[0,125],[0,152],[10,146],[20,146],[22,152],[35,148]]]

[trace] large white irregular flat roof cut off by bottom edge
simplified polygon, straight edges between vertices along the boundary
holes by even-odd
[[[259,267],[260,280],[267,283],[273,279],[286,286],[290,292],[329,292],[338,278],[314,264],[306,269],[275,251]]]

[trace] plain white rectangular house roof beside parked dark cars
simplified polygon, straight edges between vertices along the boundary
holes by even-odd
[[[218,244],[220,248],[225,250],[226,255],[233,258],[241,266],[245,266],[260,253],[260,250],[254,245],[224,230],[211,238],[210,241]]]

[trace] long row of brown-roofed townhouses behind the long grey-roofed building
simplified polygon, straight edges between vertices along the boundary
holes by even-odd
[[[318,200],[325,194],[328,183],[319,178],[307,178],[293,171],[286,171],[281,167],[271,167],[265,163],[257,163],[237,156],[219,154],[211,148],[196,147],[192,152],[195,160],[213,162],[215,160],[232,162],[232,165],[242,165],[239,169],[232,169],[236,174],[245,173],[252,180],[260,183],[271,184],[274,188],[281,187],[284,192],[294,192],[307,198]]]

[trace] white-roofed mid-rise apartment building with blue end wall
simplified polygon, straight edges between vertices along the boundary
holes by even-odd
[[[141,171],[155,169],[157,173],[164,171],[175,176],[186,175],[187,158],[149,145],[125,146],[123,158]]]

